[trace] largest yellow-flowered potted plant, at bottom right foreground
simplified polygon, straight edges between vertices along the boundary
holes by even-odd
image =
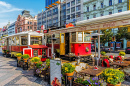
[[[107,68],[102,73],[107,86],[120,86],[124,81],[124,73],[118,69]]]

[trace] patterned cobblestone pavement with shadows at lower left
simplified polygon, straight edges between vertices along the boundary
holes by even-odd
[[[16,59],[3,57],[0,53],[0,86],[48,86],[33,71],[16,67]]]

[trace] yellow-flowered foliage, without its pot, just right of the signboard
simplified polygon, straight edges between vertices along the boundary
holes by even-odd
[[[75,66],[70,63],[63,64],[61,71],[63,73],[72,73],[75,70]]]

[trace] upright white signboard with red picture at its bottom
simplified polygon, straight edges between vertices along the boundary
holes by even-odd
[[[61,86],[61,61],[50,60],[50,83],[51,86]]]

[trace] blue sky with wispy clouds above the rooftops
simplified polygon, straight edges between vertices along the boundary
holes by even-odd
[[[8,21],[13,23],[23,10],[30,11],[32,16],[45,10],[45,0],[0,0],[0,28]]]

